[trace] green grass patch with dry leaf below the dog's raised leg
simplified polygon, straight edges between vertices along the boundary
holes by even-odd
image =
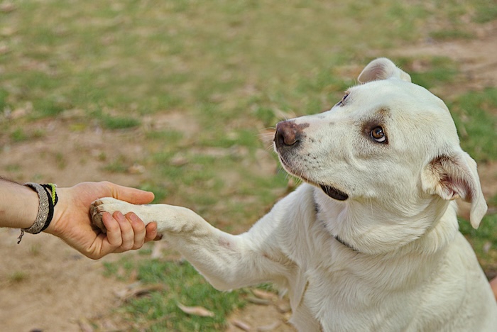
[[[107,274],[116,274],[123,264],[107,263]],[[143,284],[163,284],[165,287],[164,291],[133,298],[118,309],[133,329],[141,329],[138,323],[142,322],[146,331],[222,331],[231,311],[245,304],[240,296],[244,290],[219,292],[188,262],[126,261],[126,270],[136,270],[137,278]],[[178,304],[202,306],[214,316],[185,314]]]

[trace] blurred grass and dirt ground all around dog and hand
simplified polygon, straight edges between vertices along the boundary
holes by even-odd
[[[297,185],[275,123],[330,109],[391,57],[444,99],[479,163],[489,214],[474,231],[462,205],[460,226],[493,277],[496,53],[493,0],[3,1],[0,175],[139,187],[241,233]],[[271,286],[216,292],[167,243],[93,262],[17,236],[0,230],[4,331],[292,331]]]

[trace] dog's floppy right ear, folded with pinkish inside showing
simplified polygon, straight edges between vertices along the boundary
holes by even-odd
[[[423,172],[422,187],[442,199],[461,197],[471,203],[469,220],[474,228],[478,228],[481,218],[486,214],[487,206],[481,192],[476,162],[464,151],[433,159]]]

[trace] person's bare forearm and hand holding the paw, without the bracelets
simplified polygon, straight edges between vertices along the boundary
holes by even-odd
[[[100,197],[116,197],[133,204],[152,201],[153,193],[122,187],[111,182],[83,182],[70,188],[58,188],[58,204],[45,233],[51,233],[92,259],[109,253],[141,248],[157,236],[155,223],[147,227],[135,214],[104,216],[107,234],[92,226],[89,205]],[[38,194],[32,189],[0,179],[0,226],[28,228],[38,214]]]

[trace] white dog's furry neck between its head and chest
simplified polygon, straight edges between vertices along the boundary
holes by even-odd
[[[315,189],[314,202],[317,221],[335,240],[357,253],[415,250],[427,238],[437,244],[430,249],[435,252],[454,237],[458,228],[452,202],[443,200],[427,201],[412,216],[373,210],[373,204],[366,206],[359,201],[335,201],[319,189]]]

